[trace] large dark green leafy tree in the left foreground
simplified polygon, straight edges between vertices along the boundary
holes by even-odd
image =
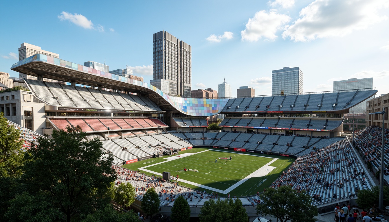
[[[19,190],[26,193],[12,200],[13,208],[25,207],[31,217],[55,212],[51,220],[70,222],[106,206],[110,183],[116,178],[113,157],[103,155],[99,140],[85,141],[84,136],[81,128],[68,127],[67,132],[54,130],[52,138],[38,138],[38,145],[25,155]],[[18,201],[21,195],[31,201]],[[12,210],[7,212],[8,219],[33,221]]]

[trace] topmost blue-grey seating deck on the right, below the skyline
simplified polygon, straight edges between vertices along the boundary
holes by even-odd
[[[375,90],[349,90],[333,93],[301,94],[297,95],[297,99],[296,95],[237,98],[230,99],[223,108],[223,112],[343,110],[369,98],[375,92]],[[318,106],[321,101],[323,101],[323,104]],[[335,107],[333,106],[334,103]]]

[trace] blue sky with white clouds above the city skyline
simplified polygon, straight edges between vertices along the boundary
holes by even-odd
[[[21,3],[22,2],[22,3]],[[152,79],[152,34],[192,46],[192,89],[226,79],[271,94],[271,72],[300,66],[304,92],[331,91],[334,80],[373,77],[389,93],[387,0],[1,1],[0,72],[23,42],[82,64],[132,66]]]

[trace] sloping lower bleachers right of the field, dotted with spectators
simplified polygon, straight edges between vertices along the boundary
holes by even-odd
[[[308,191],[315,205],[348,198],[357,190],[372,187],[346,139],[298,157],[272,187],[281,185]]]

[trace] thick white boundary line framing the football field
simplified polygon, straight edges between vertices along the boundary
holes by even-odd
[[[211,150],[211,149],[209,149]],[[200,151],[200,152],[196,152],[196,153],[188,153],[188,154],[184,154],[184,155],[178,155],[178,156],[173,156],[173,157],[168,157],[166,159],[166,161],[163,161],[161,163],[166,163],[166,162],[169,162],[169,161],[172,161],[172,160],[175,160],[175,159],[180,159],[182,157],[187,157],[187,156],[191,156],[191,155],[194,155],[194,154],[199,154],[199,153],[202,153],[202,152],[206,152],[208,150],[203,150],[203,151]],[[216,151],[220,151],[220,152],[228,152],[228,153],[234,153],[234,154],[237,154],[236,152],[229,152],[229,151],[224,151],[224,150],[216,150]],[[257,155],[251,155],[251,154],[240,154],[240,155],[248,155],[248,156],[257,156]],[[257,157],[265,157],[265,156],[257,156]],[[237,188],[238,186],[242,185],[244,182],[246,182],[249,178],[252,178],[252,177],[256,177],[256,175],[263,175],[266,170],[268,170],[268,172],[265,174],[267,175],[268,173],[270,173],[275,167],[270,167],[269,165],[272,164],[274,161],[277,161],[278,158],[274,158],[274,157],[265,157],[265,158],[270,158],[270,159],[273,159],[272,161],[270,161],[269,163],[265,164],[264,166],[262,166],[261,168],[259,168],[258,170],[252,172],[250,175],[248,175],[247,177],[243,178],[242,180],[240,180],[239,182],[237,182],[236,184],[232,185],[231,187],[228,187],[226,190],[222,191],[220,189],[216,189],[216,188],[213,188],[213,187],[209,187],[209,186],[206,186],[206,185],[202,185],[202,184],[198,184],[198,183],[195,183],[195,182],[192,182],[192,181],[189,181],[189,180],[183,180],[183,179],[178,179],[177,181],[179,182],[184,182],[186,184],[191,184],[191,185],[195,185],[196,187],[201,187],[203,189],[209,189],[209,190],[212,190],[212,191],[216,191],[216,192],[219,192],[219,193],[222,193],[222,194],[228,194],[229,192],[231,192],[233,189]],[[155,164],[151,164],[149,166],[155,166],[155,165],[158,165],[158,164],[161,164],[161,163],[155,163]],[[142,167],[142,168],[138,168],[139,170],[143,170],[143,171],[146,171],[146,172],[149,172],[149,173],[152,173],[152,174],[155,174],[155,175],[159,175],[159,176],[162,176],[162,173],[158,173],[158,172],[155,172],[155,171],[152,171],[152,170],[147,170],[145,168],[149,167],[149,166],[145,166],[145,167]]]

